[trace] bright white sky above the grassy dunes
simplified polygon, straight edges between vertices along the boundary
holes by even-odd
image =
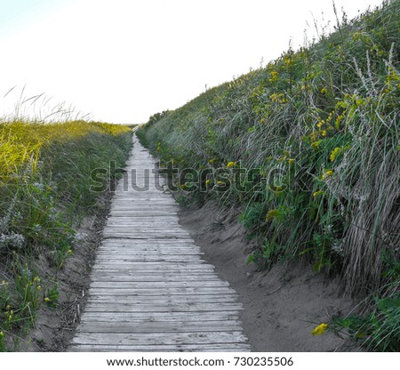
[[[380,3],[335,0],[349,19]],[[333,28],[332,0],[0,0],[0,117],[26,85],[46,107],[140,124],[296,48],[312,14]]]

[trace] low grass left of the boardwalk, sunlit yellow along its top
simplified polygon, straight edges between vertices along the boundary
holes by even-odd
[[[0,122],[0,350],[12,349],[42,304],[56,307],[57,282],[37,264],[60,269],[74,253],[74,227],[101,194],[91,191],[92,171],[124,165],[131,137],[130,127],[104,123]]]

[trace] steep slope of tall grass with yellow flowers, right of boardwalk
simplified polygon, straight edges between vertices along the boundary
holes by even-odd
[[[249,261],[307,259],[367,297],[330,327],[371,350],[400,345],[399,19],[398,0],[344,16],[138,131],[165,167],[187,169],[187,200],[242,209],[260,245]]]

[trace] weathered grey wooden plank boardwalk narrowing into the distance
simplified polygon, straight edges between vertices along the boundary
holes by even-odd
[[[250,350],[236,292],[180,226],[174,199],[155,187],[154,168],[155,159],[135,139],[69,350]],[[149,189],[132,189],[131,169],[137,186]]]

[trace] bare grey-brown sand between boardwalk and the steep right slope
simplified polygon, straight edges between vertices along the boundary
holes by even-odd
[[[308,264],[279,265],[269,271],[247,265],[253,245],[238,216],[220,213],[208,203],[202,208],[182,209],[180,223],[201,245],[204,259],[239,294],[244,304],[244,334],[252,351],[358,350],[332,332],[311,334],[317,325],[353,307],[354,302],[343,296],[339,281],[316,274]]]

